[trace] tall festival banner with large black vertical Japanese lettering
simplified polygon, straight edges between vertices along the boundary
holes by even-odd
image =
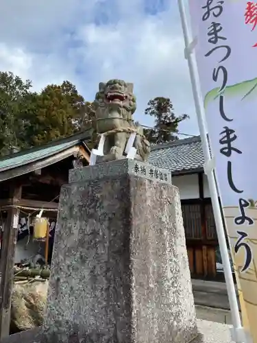
[[[234,270],[257,342],[257,3],[189,0]]]

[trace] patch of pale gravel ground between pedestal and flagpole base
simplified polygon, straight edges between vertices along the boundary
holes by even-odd
[[[230,335],[231,325],[197,320],[197,325],[203,338],[194,340],[192,343],[233,343]]]

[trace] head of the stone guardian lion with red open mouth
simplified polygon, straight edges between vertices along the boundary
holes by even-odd
[[[107,83],[99,84],[99,91],[95,95],[95,105],[97,108],[114,110],[124,117],[136,110],[136,97],[133,94],[133,84],[123,80],[110,80]]]

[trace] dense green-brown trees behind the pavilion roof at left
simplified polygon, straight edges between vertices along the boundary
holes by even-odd
[[[0,154],[10,147],[32,147],[69,137],[90,127],[95,108],[69,81],[49,84],[40,93],[32,82],[0,72]]]

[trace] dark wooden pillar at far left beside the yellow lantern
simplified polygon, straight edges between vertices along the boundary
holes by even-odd
[[[12,182],[10,186],[11,206],[3,231],[3,245],[0,261],[0,340],[9,335],[10,307],[12,300],[14,254],[17,237],[19,209],[13,207],[21,199],[21,185]]]

